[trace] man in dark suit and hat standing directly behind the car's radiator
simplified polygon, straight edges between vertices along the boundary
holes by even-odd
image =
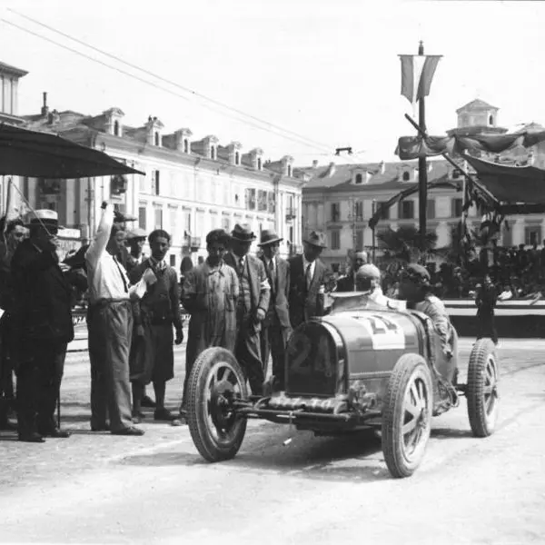
[[[290,322],[292,328],[322,316],[327,268],[319,257],[325,248],[325,236],[312,231],[303,241],[303,253],[288,260],[290,263]]]

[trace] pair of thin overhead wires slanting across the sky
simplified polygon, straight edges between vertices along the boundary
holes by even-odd
[[[79,44],[79,45],[84,45],[84,47],[87,47],[87,48],[89,48],[89,49],[91,49],[91,50],[93,50],[93,51],[95,51],[95,52],[97,52],[97,53],[99,53],[99,54],[103,54],[104,56],[107,56],[107,57],[109,57],[109,58],[115,60],[115,61],[118,62],[118,63],[125,64],[125,65],[127,65],[127,66],[129,66],[129,67],[131,67],[131,68],[133,68],[133,69],[135,69],[135,70],[138,70],[138,71],[140,71],[140,72],[142,72],[142,73],[144,73],[144,74],[148,74],[148,75],[154,77],[155,79],[158,79],[158,80],[162,81],[163,83],[170,84],[170,85],[173,85],[174,87],[177,87],[177,88],[179,88],[179,89],[182,89],[185,93],[193,94],[194,96],[196,96],[197,98],[200,98],[201,100],[207,101],[207,102],[209,102],[209,103],[211,103],[211,104],[214,104],[214,105],[216,105],[216,106],[219,106],[219,107],[221,107],[221,108],[223,108],[223,109],[225,109],[225,110],[231,111],[231,112],[233,112],[234,114],[242,115],[243,117],[246,117],[246,118],[252,120],[253,122],[257,122],[257,123],[263,124],[263,125],[268,125],[268,127],[272,128],[273,131],[270,130],[270,129],[268,129],[268,128],[265,128],[265,127],[263,127],[263,126],[261,126],[261,125],[256,125],[255,123],[250,123],[250,122],[248,122],[248,121],[245,120],[245,119],[241,119],[240,117],[233,117],[232,114],[229,115],[230,117],[236,119],[237,121],[240,121],[240,122],[242,122],[242,123],[244,123],[244,124],[249,124],[250,126],[253,126],[254,128],[257,128],[257,129],[259,129],[259,130],[263,130],[263,131],[269,132],[269,133],[271,133],[271,134],[280,135],[280,136],[282,136],[283,138],[292,140],[292,142],[296,142],[297,144],[303,144],[303,145],[306,145],[307,147],[313,147],[313,148],[315,148],[315,149],[328,150],[329,154],[332,154],[332,152],[331,152],[332,148],[331,148],[328,144],[324,144],[324,143],[318,142],[318,141],[316,141],[316,140],[313,140],[312,138],[309,138],[309,137],[307,137],[307,136],[304,136],[304,135],[302,135],[302,134],[295,133],[294,131],[291,131],[291,130],[289,130],[289,129],[285,129],[285,128],[281,127],[280,125],[272,124],[272,123],[270,123],[270,122],[268,122],[268,121],[266,121],[266,120],[263,120],[263,119],[261,119],[261,118],[255,116],[255,115],[253,115],[253,114],[246,114],[245,112],[243,112],[243,111],[240,110],[240,109],[233,108],[232,106],[229,106],[228,104],[224,104],[224,103],[222,103],[221,101],[215,100],[215,99],[213,99],[213,98],[211,98],[211,97],[209,97],[209,96],[206,96],[206,95],[204,95],[204,94],[198,93],[198,92],[194,91],[193,89],[190,89],[190,88],[188,88],[188,87],[186,87],[186,86],[184,86],[184,85],[182,85],[182,84],[178,84],[178,83],[176,83],[176,82],[173,82],[172,80],[169,80],[169,79],[163,77],[163,76],[160,75],[160,74],[154,74],[154,72],[151,72],[151,71],[149,71],[149,70],[147,70],[147,69],[145,69],[145,68],[142,68],[141,66],[138,66],[137,64],[133,64],[133,63],[130,63],[130,62],[128,62],[128,61],[124,61],[124,59],[118,57],[117,55],[110,54],[110,53],[108,53],[108,52],[106,52],[106,51],[104,51],[104,50],[102,50],[102,49],[100,49],[100,48],[98,48],[98,47],[96,47],[96,46],[94,46],[94,45],[87,44],[87,43],[84,42],[83,40],[80,40],[80,39],[78,39],[78,38],[75,38],[75,37],[72,36],[72,35],[68,35],[68,34],[66,34],[66,33],[64,33],[64,32],[62,32],[62,31],[60,31],[60,30],[54,28],[53,26],[45,25],[45,23],[42,23],[42,22],[36,20],[36,19],[33,18],[33,17],[30,17],[30,16],[28,16],[28,15],[22,14],[22,13],[20,13],[20,12],[14,10],[14,9],[12,9],[12,8],[6,8],[6,9],[7,9],[7,11],[10,11],[10,12],[14,13],[15,15],[19,15],[19,16],[25,18],[26,20],[28,20],[28,21],[34,23],[35,25],[42,26],[42,27],[46,28],[47,30],[49,30],[49,31],[51,31],[51,32],[54,32],[55,34],[62,35],[62,36],[64,36],[64,38],[67,38],[67,39],[69,39],[69,40],[72,40],[72,41],[74,41],[75,43],[77,43],[77,44]],[[183,96],[182,94],[173,93],[173,91],[170,90],[170,89],[166,89],[166,88],[164,88],[163,86],[159,86],[159,85],[157,85],[157,84],[154,84],[154,83],[152,83],[152,82],[149,82],[148,80],[144,80],[144,78],[139,77],[138,75],[129,73],[129,72],[127,72],[127,71],[125,71],[125,70],[123,70],[123,69],[121,69],[121,68],[112,66],[111,64],[106,64],[106,63],[104,63],[104,61],[101,61],[101,60],[99,60],[99,59],[96,59],[95,57],[92,57],[92,56],[90,56],[90,55],[84,54],[84,53],[82,53],[81,51],[78,51],[78,50],[76,50],[76,49],[74,49],[74,48],[72,48],[72,47],[69,47],[69,46],[67,46],[67,45],[60,44],[60,43],[58,43],[58,42],[55,42],[55,41],[52,40],[51,38],[48,38],[48,37],[46,37],[45,35],[41,35],[41,34],[39,34],[39,33],[36,33],[36,32],[34,32],[34,31],[32,31],[32,30],[30,30],[30,29],[24,27],[24,26],[17,25],[17,24],[15,24],[13,21],[8,21],[8,20],[6,20],[5,18],[0,18],[0,20],[3,21],[3,22],[5,22],[5,23],[8,24],[8,25],[13,25],[13,26],[15,26],[16,28],[18,28],[19,30],[22,30],[22,31],[24,31],[24,32],[26,32],[26,33],[28,33],[28,34],[35,35],[36,37],[39,37],[39,38],[41,38],[41,39],[44,39],[44,40],[46,40],[46,41],[48,41],[48,42],[50,42],[50,43],[52,43],[52,44],[54,44],[54,45],[57,45],[57,46],[59,46],[59,47],[62,47],[62,48],[66,49],[66,50],[68,50],[68,51],[70,51],[70,52],[72,52],[72,53],[79,54],[79,55],[84,56],[85,58],[87,58],[87,59],[89,59],[89,60],[91,60],[91,61],[94,61],[94,62],[96,62],[96,63],[98,63],[98,64],[102,64],[102,65],[104,65],[104,66],[106,66],[106,67],[108,67],[108,68],[111,68],[111,69],[113,69],[113,70],[116,70],[116,71],[120,72],[121,74],[128,75],[129,77],[134,77],[135,79],[137,79],[138,81],[140,81],[140,82],[142,82],[142,83],[152,85],[152,86],[154,86],[155,88],[161,89],[161,90],[166,91],[166,92],[171,93],[171,94],[174,94],[175,96],[178,96],[178,97],[180,97],[180,98],[183,98],[183,100],[189,100],[186,96]],[[220,114],[225,114],[224,112],[218,111],[218,110],[215,109],[215,108],[211,108],[211,107],[210,107],[209,105],[207,105],[207,104],[202,104],[202,105],[203,105],[203,107],[208,108],[208,109],[211,109],[211,110],[213,110],[213,111],[215,111],[215,112],[218,112],[218,113],[220,113]],[[281,132],[281,133],[284,133],[284,134],[277,134],[278,132]],[[289,135],[289,136],[288,136],[288,135]],[[293,137],[296,138],[297,140],[293,140]]]

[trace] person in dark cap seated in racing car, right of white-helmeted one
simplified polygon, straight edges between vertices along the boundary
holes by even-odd
[[[447,358],[452,357],[453,328],[445,305],[431,293],[431,276],[425,267],[411,263],[400,283],[400,297],[407,300],[407,308],[423,312],[431,318],[435,332],[441,339],[441,347]]]

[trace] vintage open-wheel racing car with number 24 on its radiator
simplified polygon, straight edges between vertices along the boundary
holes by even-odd
[[[430,437],[431,417],[467,398],[471,430],[486,437],[498,413],[499,362],[490,339],[471,350],[468,380],[458,383],[457,335],[445,356],[431,320],[384,308],[361,293],[339,294],[332,312],[292,332],[285,391],[249,396],[231,352],[209,348],[193,365],[187,421],[207,461],[233,458],[249,418],[292,424],[316,435],[381,431],[393,477],[415,471]]]

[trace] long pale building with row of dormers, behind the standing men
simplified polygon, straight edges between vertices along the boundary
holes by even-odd
[[[28,128],[54,131],[146,174],[21,183],[33,207],[55,209],[64,226],[80,229],[84,237],[94,233],[101,203],[112,200],[136,218],[134,226],[172,233],[174,266],[183,255],[195,261],[205,255],[206,233],[235,223],[250,223],[258,236],[275,228],[284,239],[283,254],[301,245],[303,181],[294,176],[291,156],[272,163],[260,148],[243,153],[242,144],[221,145],[213,135],[193,141],[188,128],[165,134],[156,117],[130,127],[119,108],[95,116],[51,111],[46,95],[41,113],[25,121]]]

